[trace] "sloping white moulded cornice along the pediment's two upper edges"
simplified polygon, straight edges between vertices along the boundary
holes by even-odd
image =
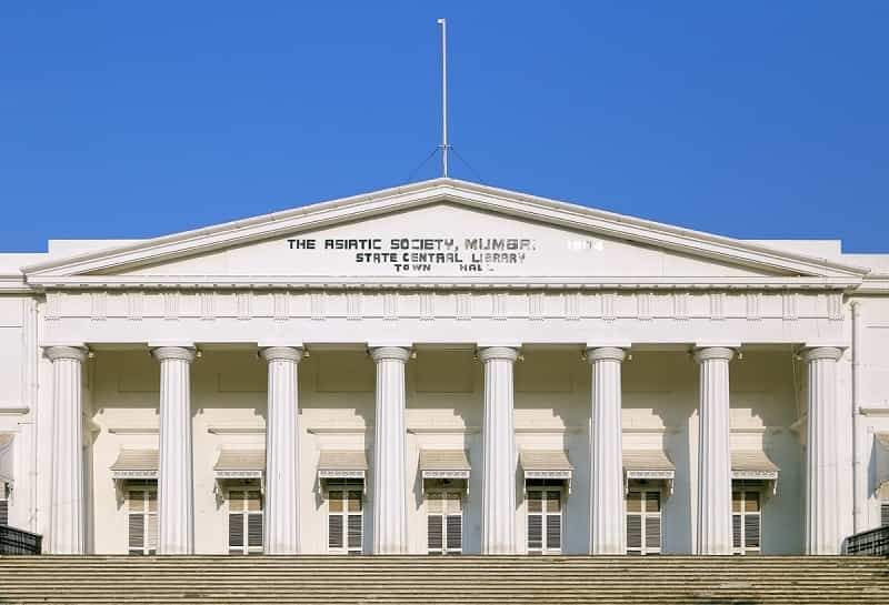
[[[176,233],[112,250],[29,265],[24,268],[23,272],[28,275],[29,282],[38,283],[36,280],[40,276],[67,276],[128,269],[440,202],[477,208],[547,224],[593,232],[610,238],[630,240],[685,254],[708,258],[713,261],[755,266],[791,275],[845,276],[855,281],[860,280],[862,275],[869,272],[867,269],[841,264],[827,259],[778,251],[721,235],[702,233],[453,179],[434,179],[364,195],[344,198]]]

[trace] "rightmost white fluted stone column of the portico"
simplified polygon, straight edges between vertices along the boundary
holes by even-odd
[[[842,350],[835,346],[807,349],[809,366],[808,427],[806,434],[806,554],[836,555],[840,552],[840,511],[837,482],[839,455],[837,431],[837,361]]]

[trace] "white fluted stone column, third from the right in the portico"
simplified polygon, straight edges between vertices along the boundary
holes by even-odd
[[[620,420],[620,364],[625,356],[623,349],[616,346],[587,349],[587,360],[592,365],[590,554],[593,555],[627,552]]]

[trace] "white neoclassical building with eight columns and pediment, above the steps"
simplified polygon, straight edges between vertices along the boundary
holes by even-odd
[[[0,254],[50,553],[838,553],[889,524],[889,254],[437,179]]]

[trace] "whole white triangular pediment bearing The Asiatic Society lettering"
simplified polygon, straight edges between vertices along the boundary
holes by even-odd
[[[26,269],[33,283],[860,279],[866,270],[437,179]]]

